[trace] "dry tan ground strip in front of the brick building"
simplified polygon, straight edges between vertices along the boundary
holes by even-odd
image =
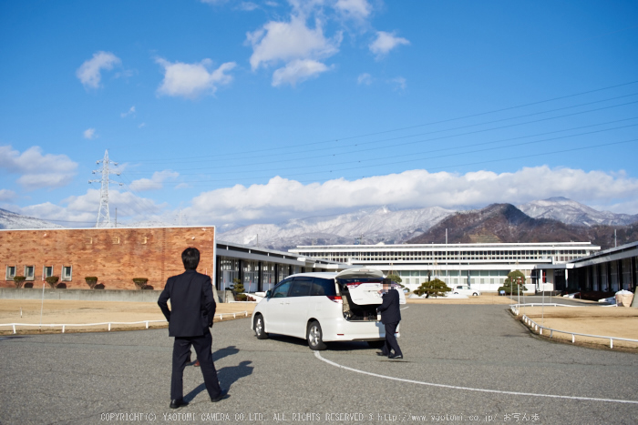
[[[159,323],[149,323],[149,328],[167,328],[168,323],[161,313],[160,307],[154,302],[114,302],[114,301],[64,301],[45,300],[44,304],[39,299],[0,299],[0,324],[4,323],[40,323],[40,308],[42,309],[42,324],[86,324],[104,322],[135,322],[142,320],[164,320]],[[233,319],[231,313],[237,318],[252,315],[254,303],[218,303],[215,311],[215,320]],[[21,313],[22,311],[22,313]],[[246,313],[243,313],[243,312]],[[22,317],[21,317],[22,314]],[[219,315],[222,315],[220,319]],[[111,329],[140,329],[146,324],[118,325],[112,324]],[[60,332],[61,326],[43,326],[42,332]],[[65,332],[77,331],[102,331],[108,330],[108,325],[91,327],[66,327]],[[39,333],[36,327],[16,327],[18,333]],[[13,333],[10,326],[0,326],[0,335]]]

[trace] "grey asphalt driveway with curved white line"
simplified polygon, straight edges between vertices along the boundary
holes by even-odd
[[[179,410],[168,329],[2,337],[0,423],[638,423],[636,354],[538,339],[502,305],[404,308],[402,361],[359,342],[316,356],[256,339],[250,319],[216,323],[230,397],[211,403],[187,367]]]

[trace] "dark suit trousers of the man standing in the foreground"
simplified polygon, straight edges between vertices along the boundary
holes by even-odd
[[[217,379],[217,370],[212,362],[212,337],[206,329],[206,334],[200,337],[175,337],[173,343],[173,369],[170,376],[170,400],[183,398],[184,368],[190,357],[190,346],[195,348],[197,359],[200,360],[201,374],[204,376],[204,384],[211,399],[221,394],[220,382]]]

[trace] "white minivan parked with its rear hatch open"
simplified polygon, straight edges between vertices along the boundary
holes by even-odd
[[[269,333],[307,339],[310,349],[325,349],[325,341],[367,341],[371,347],[383,347],[386,330],[376,313],[383,278],[380,270],[370,268],[289,276],[257,304],[251,329],[258,339],[267,339]],[[398,292],[405,304],[403,291]]]

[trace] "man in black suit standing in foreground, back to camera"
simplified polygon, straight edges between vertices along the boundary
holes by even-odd
[[[200,251],[186,248],[181,253],[186,271],[170,277],[160,294],[158,304],[169,322],[169,336],[173,343],[173,368],[170,376],[170,409],[186,406],[183,400],[184,367],[190,357],[190,346],[195,348],[200,360],[201,374],[211,401],[222,400],[227,391],[221,390],[217,370],[212,362],[211,330],[215,316],[215,299],[212,297],[211,278],[196,271],[200,264]],[[170,309],[167,301],[170,299]]]

